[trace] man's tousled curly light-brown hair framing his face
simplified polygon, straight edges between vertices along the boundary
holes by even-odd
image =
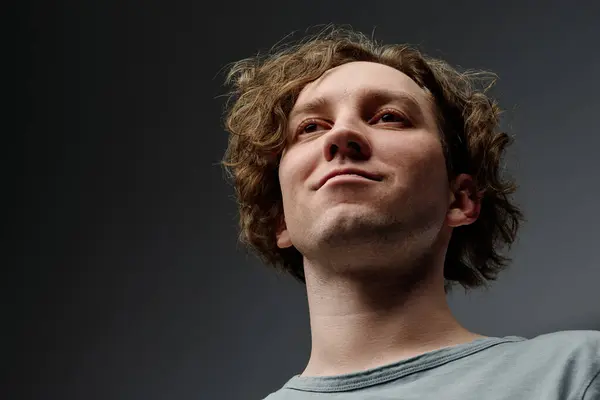
[[[512,245],[523,221],[509,197],[517,187],[501,176],[502,156],[512,139],[499,132],[501,110],[487,94],[496,76],[459,72],[409,45],[383,45],[347,28],[329,26],[230,66],[225,82],[232,88],[225,110],[229,143],[222,164],[235,188],[240,241],[267,264],[304,282],[300,252],[276,244],[283,218],[278,166],[287,141],[287,116],[306,84],[353,61],[393,67],[433,98],[448,179],[470,174],[481,194],[479,218],[452,232],[444,261],[445,290],[456,283],[465,290],[487,286],[510,262],[501,249]]]

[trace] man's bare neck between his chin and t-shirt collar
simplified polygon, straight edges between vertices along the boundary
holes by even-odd
[[[303,376],[362,371],[484,337],[452,315],[441,272],[415,281],[319,270],[305,260],[312,349]]]

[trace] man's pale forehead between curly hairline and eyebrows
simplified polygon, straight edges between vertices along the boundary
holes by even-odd
[[[408,75],[374,62],[355,61],[326,71],[300,92],[292,109],[301,108],[315,98],[339,103],[373,93],[398,93],[412,97],[427,108],[429,95]]]

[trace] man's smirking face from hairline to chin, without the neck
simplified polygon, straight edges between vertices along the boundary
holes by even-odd
[[[279,247],[349,265],[432,246],[450,191],[433,104],[407,75],[333,68],[300,93],[287,134]]]

